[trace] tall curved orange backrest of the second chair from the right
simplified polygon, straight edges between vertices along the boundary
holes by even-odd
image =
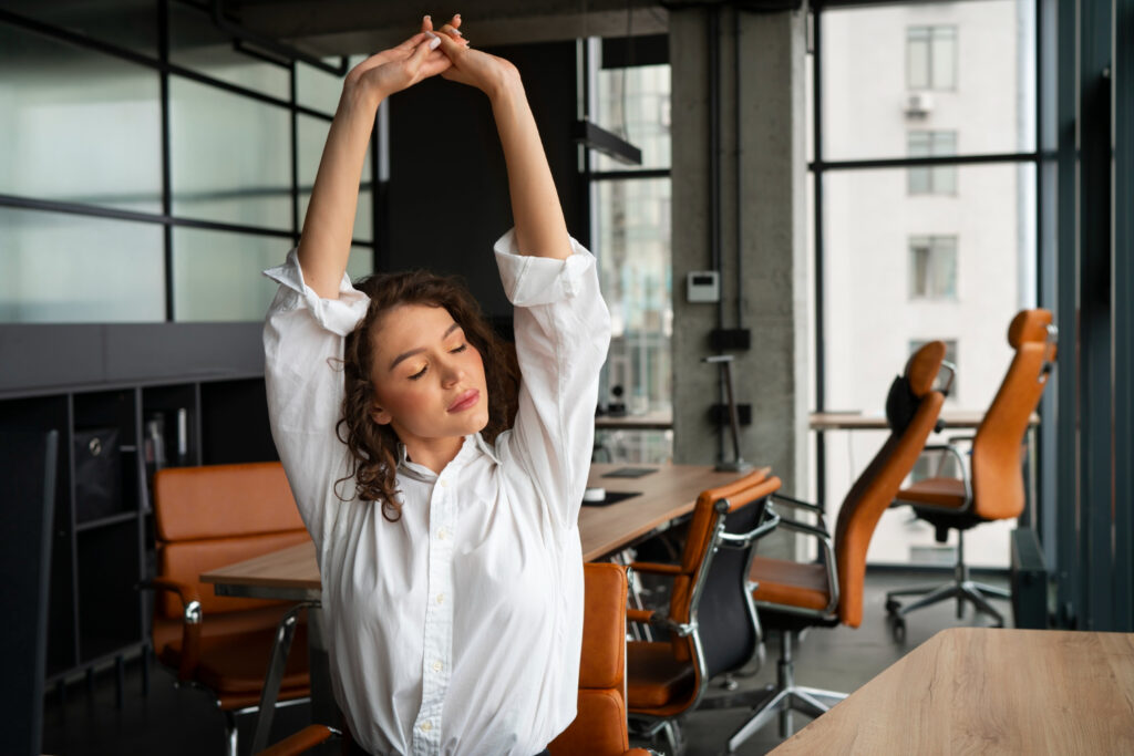
[[[866,575],[866,550],[882,512],[894,501],[902,482],[913,469],[925,440],[937,424],[945,396],[933,390],[938,371],[945,359],[945,343],[930,341],[906,363],[902,375],[890,389],[908,391],[916,402],[903,418],[891,417],[890,438],[874,455],[854,486],[850,487],[835,524],[835,560],[839,584],[839,621],[850,627],[862,623],[863,580]],[[894,402],[887,402],[888,408]]]

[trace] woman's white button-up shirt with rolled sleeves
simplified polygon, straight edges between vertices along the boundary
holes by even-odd
[[[350,499],[336,435],[344,337],[369,299],[303,282],[295,253],[264,328],[272,434],[322,575],[331,679],[350,731],[376,754],[542,750],[575,717],[583,629],[578,509],[610,316],[594,257],[496,258],[516,306],[523,375],[511,430],[465,438],[434,475],[398,465],[401,519]]]

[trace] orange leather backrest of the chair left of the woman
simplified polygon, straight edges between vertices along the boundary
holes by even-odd
[[[307,530],[279,462],[171,467],[154,475],[158,574],[189,585],[210,613],[242,611],[269,602],[214,595],[198,577],[307,540]],[[178,618],[176,596],[159,596],[159,617]]]

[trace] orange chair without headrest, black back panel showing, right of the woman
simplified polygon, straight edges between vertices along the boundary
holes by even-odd
[[[760,648],[760,622],[748,593],[754,544],[776,527],[767,507],[778,477],[756,470],[701,493],[680,564],[634,562],[632,569],[672,579],[665,611],[629,610],[632,621],[663,640],[627,643],[631,721],[680,750],[679,720],[704,702],[710,679],[738,670]],[[759,693],[759,691],[758,691]],[[713,698],[714,707],[751,706],[752,695]]]

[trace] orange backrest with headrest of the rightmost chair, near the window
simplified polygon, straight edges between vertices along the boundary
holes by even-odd
[[[1024,309],[1008,326],[1016,350],[1008,372],[973,439],[973,513],[1008,519],[1024,511],[1021,448],[1029,418],[1040,404],[1056,358],[1055,329],[1047,309]]]

